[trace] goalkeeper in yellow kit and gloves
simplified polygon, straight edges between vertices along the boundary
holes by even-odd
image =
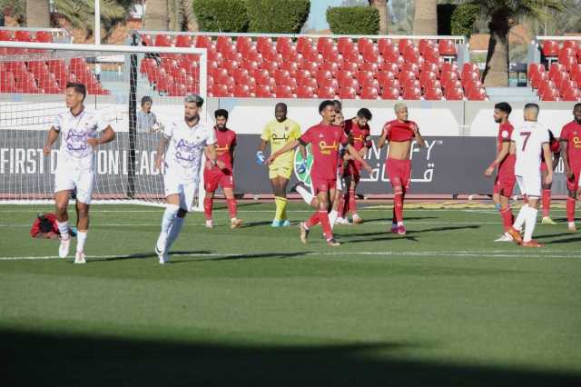
[[[270,123],[266,124],[261,135],[256,159],[259,164],[264,164],[266,156],[266,144],[271,144],[271,154],[281,149],[284,145],[290,144],[300,137],[300,125],[287,117],[287,105],[276,104],[274,107],[274,117]],[[276,203],[276,213],[271,223],[272,227],[288,226],[291,224],[287,219],[287,184],[291,179],[294,154],[289,152],[282,154],[276,161],[269,165],[269,179],[271,179],[272,191],[274,192],[274,203]]]

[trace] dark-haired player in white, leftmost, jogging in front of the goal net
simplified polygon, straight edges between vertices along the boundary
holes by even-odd
[[[85,95],[84,84],[66,84],[64,101],[69,110],[54,118],[43,149],[44,155],[49,155],[51,146],[61,134],[61,147],[54,174],[56,223],[61,234],[58,253],[61,258],[69,253],[71,235],[66,208],[69,194],[76,190],[78,233],[74,263],[85,263],[84,243],[89,230],[89,205],[94,184],[94,148],[113,141],[115,137],[109,124],[104,123],[96,114],[84,110]]]

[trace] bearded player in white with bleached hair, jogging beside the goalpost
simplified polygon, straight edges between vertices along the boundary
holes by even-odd
[[[225,167],[222,161],[216,161],[213,128],[200,122],[202,104],[200,95],[185,97],[183,120],[165,127],[157,148],[155,164],[158,169],[161,169],[162,163],[165,166],[163,184],[167,201],[162,232],[155,243],[155,253],[160,263],[169,262],[170,247],[182,231],[185,215],[192,211],[193,201],[198,197],[203,155],[208,158],[209,168]]]

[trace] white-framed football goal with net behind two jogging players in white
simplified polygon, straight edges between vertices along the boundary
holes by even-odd
[[[94,202],[163,202],[157,144],[164,126],[183,119],[185,95],[206,99],[206,53],[146,46],[139,35],[129,40],[123,46],[0,42],[0,203],[52,200],[61,139],[49,156],[43,146],[55,115],[67,110],[67,82],[85,84],[84,108],[116,132],[95,152]],[[150,113],[143,109],[148,101]],[[205,120],[205,109],[201,115]]]

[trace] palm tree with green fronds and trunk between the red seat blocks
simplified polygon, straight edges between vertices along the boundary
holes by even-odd
[[[469,3],[478,5],[488,19],[490,40],[482,79],[485,86],[493,87],[508,86],[508,33],[517,20],[528,17],[544,21],[549,10],[565,9],[558,0],[469,0]]]

